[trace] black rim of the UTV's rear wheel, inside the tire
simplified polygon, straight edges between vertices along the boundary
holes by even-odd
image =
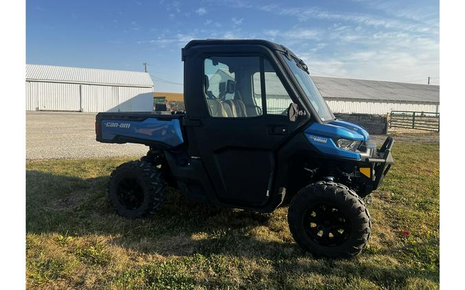
[[[127,210],[136,210],[144,201],[144,191],[137,179],[125,177],[116,186],[116,196],[119,203]]]

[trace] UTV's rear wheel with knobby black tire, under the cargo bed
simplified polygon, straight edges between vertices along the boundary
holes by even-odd
[[[154,214],[165,199],[163,172],[147,161],[121,164],[110,176],[108,196],[121,216],[141,217]]]

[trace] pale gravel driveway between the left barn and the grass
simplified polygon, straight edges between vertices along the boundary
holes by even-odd
[[[26,112],[26,159],[143,156],[141,144],[95,140],[96,113]]]

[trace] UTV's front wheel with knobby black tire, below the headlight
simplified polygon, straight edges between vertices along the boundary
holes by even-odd
[[[358,195],[339,183],[320,181],[292,199],[289,229],[296,243],[316,256],[350,258],[369,240],[370,214]]]

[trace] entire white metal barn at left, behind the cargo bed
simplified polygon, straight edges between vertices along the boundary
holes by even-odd
[[[26,111],[152,111],[148,73],[26,65]]]

